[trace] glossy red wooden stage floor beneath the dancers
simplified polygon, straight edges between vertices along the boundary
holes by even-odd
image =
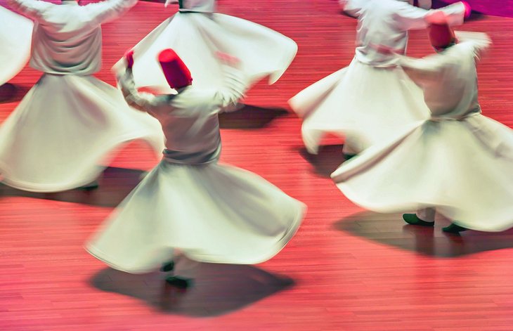
[[[141,2],[105,25],[98,77],[113,84],[115,60],[174,11]],[[158,273],[108,268],[82,245],[157,162],[132,143],[95,191],[0,186],[0,330],[512,330],[513,231],[457,237],[441,233],[444,219],[434,229],[415,228],[398,214],[365,212],[329,179],[343,161],[341,141],[330,138],[320,155],[306,155],[287,99],[349,64],[356,21],[328,0],[221,0],[219,11],[299,45],[283,79],[255,86],[246,100],[252,107],[223,117],[222,132],[223,162],[309,205],[297,236],[264,264],[202,265],[186,292],[166,287]],[[494,46],[479,67],[480,101],[485,115],[512,126],[513,20],[482,16],[463,29],[491,34]],[[430,51],[425,32],[414,32],[410,54]],[[11,81],[0,122],[38,77],[27,68]]]

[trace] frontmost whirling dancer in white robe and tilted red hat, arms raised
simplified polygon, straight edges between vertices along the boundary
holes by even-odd
[[[177,95],[138,93],[130,69],[118,79],[126,101],[162,123],[164,158],[86,249],[129,273],[155,270],[174,259],[176,250],[202,262],[257,264],[270,259],[297,231],[306,207],[256,174],[218,164],[218,113],[237,103],[246,77],[223,65],[221,87],[197,88],[188,85],[190,74],[176,53],[168,49],[159,58]]]

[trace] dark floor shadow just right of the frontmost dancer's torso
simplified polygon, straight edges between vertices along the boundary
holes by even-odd
[[[219,114],[221,129],[259,129],[267,126],[273,119],[288,115],[283,108],[261,108],[255,105],[239,105],[240,110]]]

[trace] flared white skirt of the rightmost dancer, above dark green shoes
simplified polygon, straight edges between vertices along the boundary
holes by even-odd
[[[483,115],[414,124],[332,179],[375,212],[436,207],[465,228],[502,231],[513,226],[513,131]]]

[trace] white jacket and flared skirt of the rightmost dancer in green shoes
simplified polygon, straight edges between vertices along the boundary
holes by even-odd
[[[433,226],[436,209],[453,220],[446,232],[502,231],[513,226],[513,131],[481,115],[477,102],[476,59],[488,36],[459,32],[457,40],[426,58],[398,57],[431,119],[345,162],[332,179],[367,209],[420,209],[403,216],[411,224]]]

